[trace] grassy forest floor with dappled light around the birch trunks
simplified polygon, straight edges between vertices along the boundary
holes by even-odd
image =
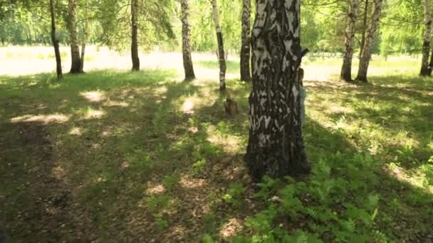
[[[197,58],[189,83],[172,62],[0,76],[12,242],[433,242],[433,79],[417,61],[374,60],[364,85],[336,80],[339,60],[306,60],[313,172],[260,184],[242,160],[251,85],[236,61],[230,117],[216,61]]]

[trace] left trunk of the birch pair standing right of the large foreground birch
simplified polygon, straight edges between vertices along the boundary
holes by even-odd
[[[341,67],[340,75],[340,78],[346,82],[352,81],[353,38],[355,37],[355,23],[358,4],[358,0],[350,0],[348,28],[346,28],[344,42],[345,53],[343,55],[343,67]]]

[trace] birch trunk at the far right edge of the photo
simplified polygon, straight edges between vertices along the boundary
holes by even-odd
[[[424,43],[422,44],[422,63],[419,75],[431,75],[429,66],[430,40],[432,39],[432,7],[430,0],[424,0]]]

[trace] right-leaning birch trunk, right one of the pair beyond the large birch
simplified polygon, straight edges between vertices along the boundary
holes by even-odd
[[[368,26],[367,29],[367,36],[365,37],[365,45],[364,48],[362,48],[362,53],[360,58],[358,77],[356,77],[356,80],[358,81],[367,82],[367,70],[368,70],[368,65],[370,65],[371,47],[375,38],[377,27],[379,26],[380,14],[382,13],[382,2],[383,0],[374,1],[372,20],[370,26]]]

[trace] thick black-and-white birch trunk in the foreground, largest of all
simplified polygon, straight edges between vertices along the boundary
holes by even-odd
[[[255,180],[309,171],[301,126],[298,69],[300,0],[265,0],[256,6],[251,43],[253,90],[246,163]]]

